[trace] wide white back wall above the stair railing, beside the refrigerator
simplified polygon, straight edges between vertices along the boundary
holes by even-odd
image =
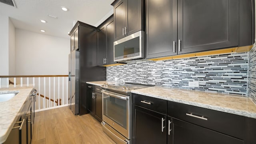
[[[68,74],[70,40],[15,30],[16,75]]]

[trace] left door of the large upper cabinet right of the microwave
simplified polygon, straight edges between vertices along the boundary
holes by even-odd
[[[177,1],[146,0],[146,58],[177,54]]]

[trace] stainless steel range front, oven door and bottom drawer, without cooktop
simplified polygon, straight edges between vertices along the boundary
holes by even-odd
[[[128,144],[130,141],[130,96],[102,90],[102,98],[104,132],[118,144]]]

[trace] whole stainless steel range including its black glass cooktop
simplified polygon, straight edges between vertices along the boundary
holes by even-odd
[[[117,144],[131,143],[131,90],[150,85],[121,83],[105,84],[102,90],[103,131]]]

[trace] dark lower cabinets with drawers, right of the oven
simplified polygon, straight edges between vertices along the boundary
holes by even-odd
[[[132,94],[132,144],[256,144],[256,119]]]

